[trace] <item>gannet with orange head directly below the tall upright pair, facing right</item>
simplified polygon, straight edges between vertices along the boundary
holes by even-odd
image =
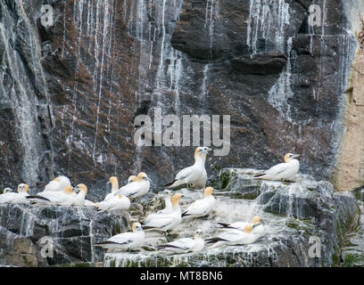
[[[182,213],[182,217],[200,217],[208,215],[213,206],[215,205],[215,198],[212,196],[212,187],[207,187],[204,191],[204,198],[195,200],[186,210]]]

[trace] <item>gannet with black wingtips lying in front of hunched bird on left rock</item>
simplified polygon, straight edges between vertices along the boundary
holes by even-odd
[[[27,199],[37,204],[71,206],[76,197],[72,190],[72,186],[66,186],[63,191],[43,191],[37,195],[30,195]]]

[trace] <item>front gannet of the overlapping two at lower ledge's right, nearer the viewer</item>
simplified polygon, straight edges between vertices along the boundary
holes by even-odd
[[[214,243],[210,248],[220,245],[243,245],[253,243],[261,237],[261,234],[253,232],[253,224],[246,224],[244,231],[234,230],[221,232],[216,238],[206,240],[207,243]]]

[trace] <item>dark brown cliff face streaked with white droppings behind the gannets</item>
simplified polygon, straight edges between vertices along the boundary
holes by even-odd
[[[42,1],[0,3],[0,185],[38,191],[68,175],[100,199],[111,175],[167,183],[203,140],[137,148],[134,118],[156,107],[230,116],[230,152],[208,158],[210,177],[288,151],[302,154],[303,172],[332,175],[357,46],[342,1],[315,1],[317,27],[309,0],[50,4],[48,27]]]

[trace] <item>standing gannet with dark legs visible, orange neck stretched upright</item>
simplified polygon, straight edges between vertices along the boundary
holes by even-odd
[[[153,230],[164,232],[164,236],[168,241],[170,241],[167,234],[169,234],[169,231],[178,226],[178,224],[182,221],[181,208],[179,207],[179,199],[181,197],[182,195],[180,193],[174,194],[172,197],[172,212],[170,214],[155,216],[151,221],[143,224],[145,231]]]

